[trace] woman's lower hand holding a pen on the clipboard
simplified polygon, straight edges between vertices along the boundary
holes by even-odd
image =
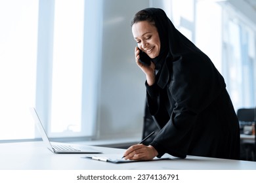
[[[153,146],[136,144],[129,147],[123,156],[130,160],[150,160],[158,156],[158,152]]]

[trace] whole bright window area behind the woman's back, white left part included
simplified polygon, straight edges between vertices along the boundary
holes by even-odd
[[[235,110],[255,107],[255,25],[223,2],[196,4],[196,45],[224,76]]]

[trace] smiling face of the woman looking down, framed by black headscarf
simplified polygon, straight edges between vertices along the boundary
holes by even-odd
[[[133,24],[132,31],[140,50],[150,58],[156,58],[160,54],[160,37],[156,26],[148,21],[137,22]]]

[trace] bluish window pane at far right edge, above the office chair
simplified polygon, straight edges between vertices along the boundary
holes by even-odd
[[[228,17],[224,29],[224,51],[226,57],[226,78],[228,91],[236,110],[242,107],[255,107],[255,41],[253,29],[234,17]]]

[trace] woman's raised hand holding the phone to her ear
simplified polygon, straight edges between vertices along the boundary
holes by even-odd
[[[140,67],[140,69],[146,74],[146,81],[148,82],[148,86],[152,86],[155,83],[155,65],[154,63],[151,61],[151,64],[148,65],[144,65],[143,63],[139,62],[139,58],[140,58],[140,50],[138,47],[135,47],[135,59],[136,59],[136,63],[137,65]]]

